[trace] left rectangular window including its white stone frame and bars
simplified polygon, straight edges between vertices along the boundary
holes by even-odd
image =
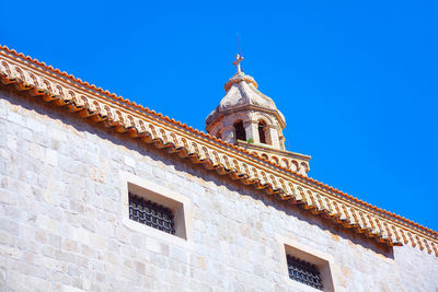
[[[160,242],[194,248],[189,198],[163,184],[126,172],[120,172],[120,184],[125,226]]]

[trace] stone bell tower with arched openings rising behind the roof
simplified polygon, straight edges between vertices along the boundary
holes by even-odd
[[[238,72],[226,83],[226,96],[208,115],[207,132],[307,176],[310,156],[285,149],[285,117],[274,101],[257,90],[255,80],[242,72],[242,60],[235,55]]]

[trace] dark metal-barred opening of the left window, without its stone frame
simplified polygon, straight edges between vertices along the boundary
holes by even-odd
[[[129,192],[129,219],[163,232],[175,234],[171,209]]]

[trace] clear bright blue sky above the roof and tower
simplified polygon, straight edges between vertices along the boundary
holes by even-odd
[[[310,176],[438,230],[437,1],[3,1],[0,43],[204,130],[243,70]]]

